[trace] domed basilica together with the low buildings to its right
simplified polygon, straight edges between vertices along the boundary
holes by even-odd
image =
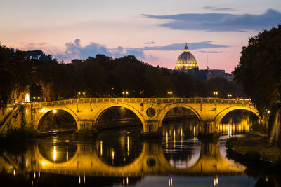
[[[207,69],[198,69],[197,61],[195,57],[189,52],[188,44],[185,44],[183,53],[178,56],[178,59],[176,60],[175,70],[184,71],[190,74],[190,76],[201,79],[203,81],[209,80],[210,78],[214,77],[226,78],[228,81],[233,80],[233,74],[228,74],[223,69],[209,69],[209,67],[207,67]]]

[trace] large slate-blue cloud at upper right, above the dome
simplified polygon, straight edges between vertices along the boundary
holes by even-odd
[[[261,15],[251,14],[176,14],[176,15],[145,15],[146,18],[168,20],[162,27],[180,30],[202,30],[206,32],[246,32],[269,29],[281,22],[281,13],[268,9]]]

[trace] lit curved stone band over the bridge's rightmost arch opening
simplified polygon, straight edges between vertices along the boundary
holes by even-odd
[[[223,111],[218,113],[216,115],[216,117],[214,118],[215,124],[218,125],[219,123],[221,123],[221,120],[223,119],[224,116],[226,116],[227,113],[230,113],[230,111],[235,111],[235,110],[250,111],[251,113],[254,113],[263,122],[263,119],[261,118],[261,116],[259,116],[259,112],[256,110],[256,108],[249,107],[249,106],[236,105],[236,106],[230,106],[226,109],[223,109]]]

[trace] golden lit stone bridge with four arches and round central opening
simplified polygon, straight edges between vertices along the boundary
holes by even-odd
[[[190,109],[201,123],[202,133],[214,133],[223,116],[244,109],[259,116],[248,99],[217,98],[83,98],[27,104],[25,118],[37,130],[39,120],[49,111],[63,110],[76,120],[78,129],[95,129],[100,116],[111,107],[122,106],[138,116],[143,132],[157,132],[166,113],[176,107]],[[261,119],[261,117],[259,116]],[[263,122],[263,119],[261,119]]]

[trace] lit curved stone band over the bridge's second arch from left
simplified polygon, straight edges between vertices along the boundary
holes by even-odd
[[[141,120],[141,124],[143,125],[143,128],[144,128],[145,118],[143,117],[143,115],[137,109],[135,109],[133,106],[130,106],[129,104],[124,104],[124,103],[110,104],[110,105],[103,107],[102,109],[99,109],[98,112],[96,113],[96,115],[93,117],[94,124],[96,125],[98,123],[100,116],[102,116],[103,113],[105,113],[105,111],[107,111],[107,109],[110,109],[112,107],[118,107],[118,106],[124,107],[125,109],[129,109],[130,111],[135,113],[136,116],[138,116],[138,118]]]

